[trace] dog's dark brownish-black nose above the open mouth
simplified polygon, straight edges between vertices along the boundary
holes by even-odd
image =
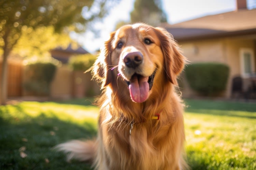
[[[143,61],[143,55],[141,52],[131,52],[124,57],[124,63],[127,67],[136,68]]]

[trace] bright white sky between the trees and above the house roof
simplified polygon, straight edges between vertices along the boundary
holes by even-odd
[[[247,0],[247,6],[249,1]],[[84,47],[88,52],[99,50],[108,40],[109,34],[114,31],[118,21],[129,21],[130,12],[133,10],[134,0],[121,0],[119,4],[110,9],[110,13],[102,22],[95,24],[100,30],[99,35],[86,32],[82,35],[71,34],[71,37]],[[163,10],[167,14],[167,22],[175,24],[207,15],[220,14],[234,11],[236,0],[162,0]]]

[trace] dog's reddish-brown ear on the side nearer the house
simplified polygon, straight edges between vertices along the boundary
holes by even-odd
[[[177,85],[177,75],[183,70],[186,58],[182,55],[173,36],[164,28],[155,28],[161,43],[166,79]]]

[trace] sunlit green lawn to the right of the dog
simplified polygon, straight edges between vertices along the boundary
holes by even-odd
[[[256,103],[186,100],[191,169],[256,169]]]

